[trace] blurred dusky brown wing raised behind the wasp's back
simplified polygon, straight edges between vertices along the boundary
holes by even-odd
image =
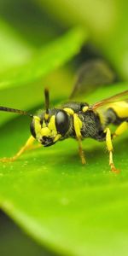
[[[76,82],[69,99],[90,93],[96,86],[111,84],[117,78],[106,61],[101,59],[85,62],[78,71]]]

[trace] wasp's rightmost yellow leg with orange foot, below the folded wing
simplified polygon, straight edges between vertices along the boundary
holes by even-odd
[[[113,164],[113,144],[112,144],[112,138],[111,138],[111,131],[109,128],[106,128],[106,143],[107,143],[107,148],[109,152],[109,166],[111,167],[112,172],[119,172],[118,169],[115,168]]]

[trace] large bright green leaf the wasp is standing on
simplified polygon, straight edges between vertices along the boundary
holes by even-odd
[[[96,102],[126,87],[106,86],[88,100]],[[28,126],[25,117],[3,125],[1,156],[15,154],[29,136]],[[81,165],[77,142],[70,139],[1,164],[1,208],[40,244],[61,255],[125,255],[127,133],[113,143],[119,175],[109,172],[105,143],[87,139],[83,144],[86,166]]]

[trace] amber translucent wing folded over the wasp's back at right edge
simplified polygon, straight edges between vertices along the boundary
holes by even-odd
[[[128,101],[128,90],[122,91],[119,94],[116,94],[114,96],[110,96],[101,102],[96,102],[95,104],[91,105],[90,108],[93,110],[96,110],[97,108],[101,108],[105,105],[108,105],[113,102],[122,102],[122,101]]]

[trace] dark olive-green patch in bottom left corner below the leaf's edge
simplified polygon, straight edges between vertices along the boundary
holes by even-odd
[[[26,236],[7,215],[0,211],[0,254],[54,256],[45,248],[39,247],[35,241]]]

